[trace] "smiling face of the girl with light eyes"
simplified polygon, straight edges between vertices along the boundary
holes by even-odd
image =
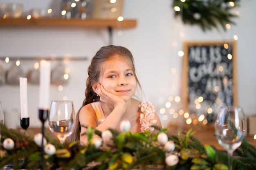
[[[103,71],[99,78],[99,83],[109,93],[127,101],[135,95],[137,82],[132,68],[125,61],[126,59],[123,57],[106,61],[103,64]]]

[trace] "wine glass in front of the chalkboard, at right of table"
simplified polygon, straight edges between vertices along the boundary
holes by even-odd
[[[241,144],[246,135],[246,117],[240,107],[221,107],[215,122],[215,135],[218,143],[228,153],[228,166],[232,170],[233,152]]]

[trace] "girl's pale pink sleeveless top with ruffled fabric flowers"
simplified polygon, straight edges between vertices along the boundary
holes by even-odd
[[[91,103],[91,105],[97,115],[98,126],[99,124],[101,124],[102,121],[105,120],[105,116],[103,114],[100,102],[93,102]],[[141,114],[139,116],[141,132],[148,130],[150,133],[152,133],[154,128],[151,126],[157,122],[157,120],[155,119],[155,106],[153,106],[151,102],[141,102],[138,107],[141,109]]]

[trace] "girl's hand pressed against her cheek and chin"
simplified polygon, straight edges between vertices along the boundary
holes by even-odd
[[[101,84],[98,84],[98,89],[101,102],[108,104],[112,108],[115,108],[119,104],[125,105],[124,99],[113,93],[109,93]]]

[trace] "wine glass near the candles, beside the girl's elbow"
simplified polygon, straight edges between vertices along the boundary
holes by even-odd
[[[75,126],[75,113],[72,101],[52,101],[49,110],[49,128],[58,137],[61,144],[70,136]]]

